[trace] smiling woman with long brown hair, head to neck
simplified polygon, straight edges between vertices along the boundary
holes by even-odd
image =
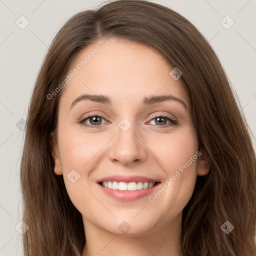
[[[30,102],[24,255],[255,255],[255,165],[221,64],[188,20],[141,0],[79,12]]]

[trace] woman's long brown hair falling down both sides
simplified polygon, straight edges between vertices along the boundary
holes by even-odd
[[[85,244],[81,214],[53,172],[49,138],[57,123],[63,81],[71,61],[89,44],[110,36],[145,43],[182,71],[200,148],[211,160],[182,213],[186,256],[255,256],[256,160],[250,130],[221,64],[202,34],[175,11],[144,0],[117,0],[73,15],[58,31],[32,93],[21,188],[25,256],[80,255]],[[171,70],[171,69],[170,69]],[[66,85],[68,86],[68,85]],[[237,102],[236,102],[237,100]],[[221,225],[234,229],[226,234]]]

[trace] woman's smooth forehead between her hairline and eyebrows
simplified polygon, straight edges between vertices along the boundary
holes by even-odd
[[[116,100],[140,100],[152,94],[172,94],[187,102],[181,80],[169,72],[173,67],[154,48],[137,42],[111,38],[84,48],[72,61],[75,75],[64,88],[63,97],[82,93],[105,94]]]

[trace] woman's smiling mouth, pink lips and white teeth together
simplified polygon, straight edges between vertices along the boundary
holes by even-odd
[[[131,201],[152,193],[161,182],[142,176],[108,176],[96,180],[104,194],[121,201]]]

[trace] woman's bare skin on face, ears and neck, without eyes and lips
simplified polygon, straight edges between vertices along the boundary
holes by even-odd
[[[89,45],[74,59],[70,72],[95,48],[99,52],[64,87],[56,133],[51,134],[54,172],[63,175],[68,195],[83,218],[82,256],[181,256],[182,209],[192,195],[196,175],[205,175],[210,168],[202,152],[153,202],[148,196],[116,200],[95,181],[122,174],[158,179],[160,186],[166,183],[200,150],[188,95],[181,79],[169,75],[173,67],[156,50],[123,39]],[[112,105],[82,100],[70,108],[82,94],[107,95]],[[145,96],[165,94],[183,100],[187,108],[175,100],[142,105]],[[103,118],[96,123],[87,118],[85,123],[100,127],[79,123],[90,113]],[[178,123],[162,127],[171,122],[159,123],[154,114],[167,114]],[[131,124],[126,131],[118,126],[123,118]],[[80,175],[74,183],[67,178],[72,169]],[[118,228],[123,221],[130,226],[126,233]]]

